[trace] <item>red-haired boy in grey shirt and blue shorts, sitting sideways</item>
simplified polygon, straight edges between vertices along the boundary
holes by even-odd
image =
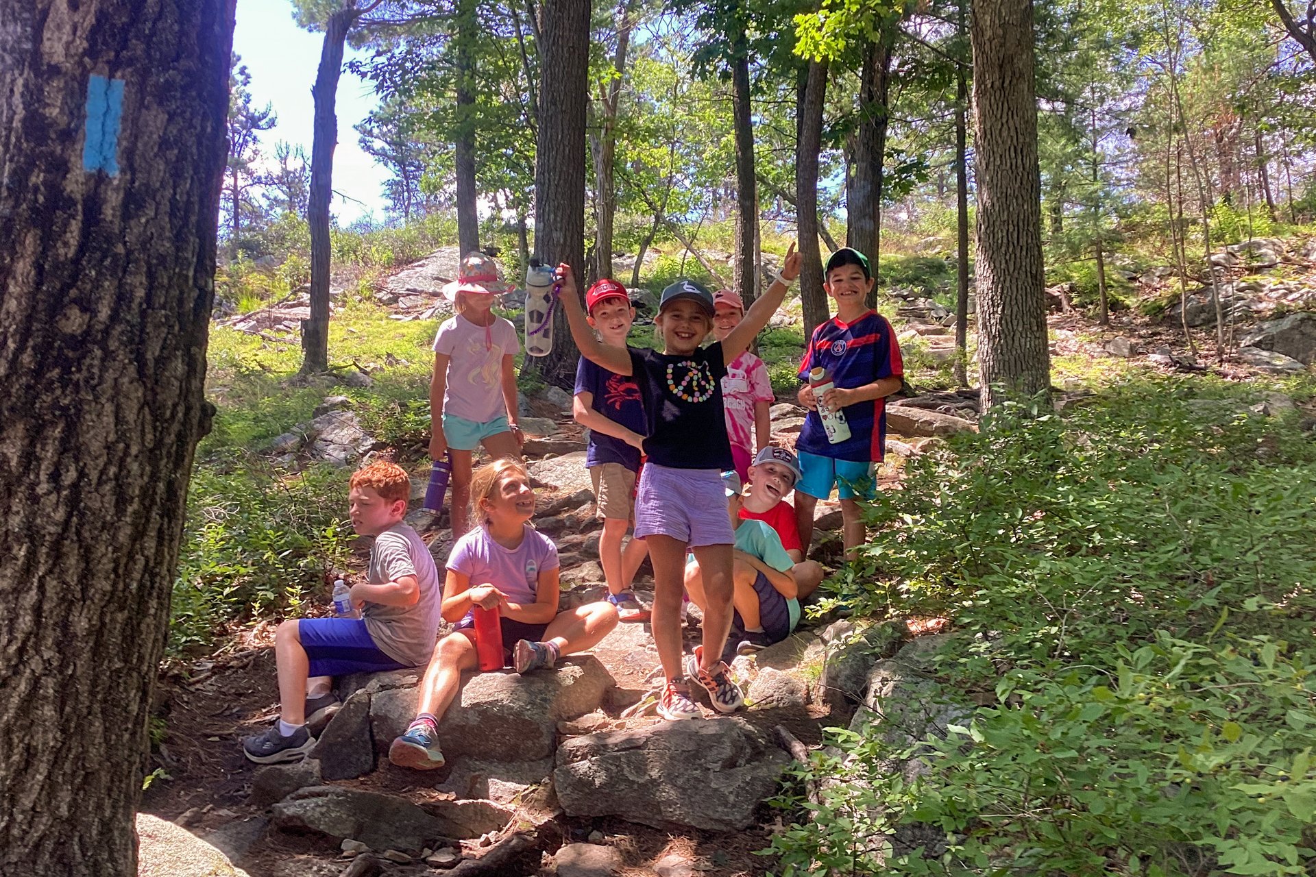
[[[434,559],[420,535],[403,523],[411,477],[395,463],[378,462],[351,476],[351,527],[375,536],[366,581],[351,586],[362,618],[301,618],[279,625],[274,653],[279,668],[279,721],[242,740],[258,764],[296,761],[316,740],[307,722],[338,702],[334,676],[418,667],[429,660],[438,630],[440,593]]]

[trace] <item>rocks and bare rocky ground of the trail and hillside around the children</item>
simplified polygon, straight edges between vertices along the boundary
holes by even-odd
[[[434,317],[441,300],[433,289],[450,255],[440,251],[396,272],[382,285],[379,301],[397,318]],[[1159,320],[1119,310],[1111,326],[1099,327],[1069,308],[1065,289],[1049,291],[1055,301],[1051,351],[1125,360],[1149,372],[1211,371],[1228,380],[1308,368],[1316,359],[1316,283],[1308,277],[1313,259],[1316,245],[1280,241],[1220,254],[1217,289],[1242,342],[1241,352],[1223,364],[1208,360],[1213,341],[1205,333],[1199,333],[1198,350],[1184,343],[1175,304],[1179,277],[1170,268],[1125,277],[1140,300],[1169,302]],[[1190,283],[1190,325],[1203,325],[1207,308],[1209,322],[1215,320],[1203,283],[1209,279]],[[890,292],[901,343],[932,363],[951,358],[953,314],[915,292]],[[286,314],[276,310],[226,320],[246,331],[291,333]],[[251,325],[237,325],[242,320]],[[791,322],[791,314],[774,317],[780,322]],[[368,368],[358,372],[349,377],[368,385]],[[1065,389],[1055,404],[1063,408],[1087,392]],[[1252,410],[1265,415],[1287,401],[1267,398]],[[559,547],[562,606],[599,600],[605,590],[596,556],[600,523],[594,519],[584,435],[570,418],[570,396],[547,388],[522,397],[520,408],[538,493],[534,523]],[[887,462],[878,481],[892,490],[900,488],[909,458],[945,435],[976,429],[978,393],[905,394],[887,410]],[[794,446],[803,415],[794,400],[779,400],[772,408],[774,442]],[[349,467],[380,450],[383,443],[362,427],[351,400],[330,396],[311,421],[274,439],[265,452],[286,465],[317,459]],[[424,496],[425,469],[424,460],[412,467],[413,509]],[[442,567],[451,548],[443,515],[415,510],[408,519]],[[829,571],[840,564],[838,530],[837,504],[820,502],[812,556]],[[354,551],[359,572],[368,546]],[[646,563],[636,589],[644,600],[651,588]],[[928,656],[954,635],[938,632],[941,623],[805,618],[786,642],[737,659],[733,671],[749,709],[720,717],[705,701],[708,718],[684,723],[653,715],[658,659],[649,626],[619,625],[591,653],[571,656],[555,671],[471,678],[441,724],[447,765],[418,773],[392,767],[384,752],[413,714],[422,671],[340,680],[345,705],[326,727],[316,728],[320,744],[311,759],[267,768],[249,764],[238,739],[272,721],[278,702],[270,648],[275,625],[262,622],[163,680],[157,713],[166,717],[168,736],[157,761],[170,781],[154,784],[142,809],[191,835],[143,817],[142,836],[153,840],[142,873],[242,873],[217,849],[254,877],[762,874],[772,864],[757,851],[782,824],[763,802],[780,789],[791,760],[822,742],[822,728],[851,722],[857,727],[876,717],[888,723],[888,734],[921,735],[973,709],[970,696],[936,690]],[[686,642],[697,642],[694,622]],[[907,769],[917,770],[917,764]],[[186,851],[188,839],[197,838],[209,847]],[[178,852],[162,857],[161,844]],[[195,869],[182,870],[180,863],[193,860]]]

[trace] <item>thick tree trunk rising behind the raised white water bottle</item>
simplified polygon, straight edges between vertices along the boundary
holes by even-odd
[[[590,60],[590,0],[540,7],[540,138],[534,162],[534,252],[584,272],[584,129]],[[579,291],[582,295],[584,289]],[[549,384],[575,385],[579,358],[567,321],[553,321],[553,352],[532,358]]]

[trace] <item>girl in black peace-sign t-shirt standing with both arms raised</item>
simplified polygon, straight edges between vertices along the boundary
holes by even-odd
[[[600,342],[586,322],[571,267],[558,266],[562,309],[580,354],[619,375],[633,375],[645,405],[647,455],[636,497],[636,538],[649,544],[654,567],[653,630],[666,685],[658,713],[667,719],[700,715],[690,699],[686,677],[708,689],[722,713],[745,698],[720,657],[732,623],[732,543],[721,472],[732,468],[730,442],[722,414],[721,379],[726,363],[749,347],[782,305],[800,273],[791,245],[775,283],[767,288],[725,341],[700,347],[713,327],[713,296],[692,280],[678,280],[662,292],[654,322],[662,351],[616,347]],[[708,606],[703,644],[682,665],[680,598],[686,551],[704,571]]]

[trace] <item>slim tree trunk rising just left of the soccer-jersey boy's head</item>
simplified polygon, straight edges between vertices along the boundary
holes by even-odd
[[[822,291],[822,254],[819,250],[819,153],[822,149],[822,100],[826,62],[811,60],[796,89],[795,212],[799,227],[800,305],[804,337],[828,318]]]

